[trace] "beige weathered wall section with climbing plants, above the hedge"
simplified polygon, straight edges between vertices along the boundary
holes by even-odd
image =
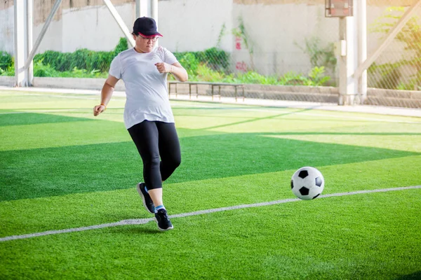
[[[338,19],[324,17],[324,4],[235,4],[233,10],[236,27],[241,18],[248,45],[251,45],[246,48],[240,41],[241,49],[234,49],[234,59],[263,74],[306,73],[311,66],[308,55],[302,50],[305,38],[319,37],[323,44],[338,40]]]

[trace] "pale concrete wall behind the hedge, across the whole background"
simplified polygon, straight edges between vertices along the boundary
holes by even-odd
[[[129,29],[135,20],[133,0],[113,0]],[[0,2],[0,50],[13,53],[13,1]],[[54,1],[34,0],[34,39]],[[413,0],[394,1],[410,5]],[[368,0],[368,25],[391,5],[389,0]],[[418,10],[421,13],[421,9]],[[233,35],[243,20],[249,48]],[[324,0],[166,0],[159,1],[159,43],[173,52],[220,48],[232,53],[232,69],[255,69],[262,74],[288,71],[308,73],[312,68],[305,40],[319,38],[320,47],[338,41],[338,18],[325,18]],[[222,28],[225,32],[221,34]],[[382,34],[369,33],[368,53]],[[112,50],[123,37],[102,0],[63,0],[58,15],[46,32],[39,52],[72,52],[78,48]],[[400,58],[403,44],[394,43],[377,63]],[[413,69],[408,69],[413,73]],[[334,73],[332,73],[334,74]]]

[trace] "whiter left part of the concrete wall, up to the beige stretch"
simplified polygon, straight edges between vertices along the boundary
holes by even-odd
[[[52,3],[47,6],[37,4],[39,1],[44,0],[34,1],[34,40],[44,26],[52,6]],[[91,5],[97,3],[98,6],[81,6],[82,0],[69,1],[64,0],[60,6],[39,46],[39,52],[73,52],[78,48],[107,51],[114,49],[124,34],[103,1],[90,2]],[[69,3],[78,3],[78,6],[72,7]],[[120,0],[112,3],[131,31],[135,21],[135,2]],[[180,52],[212,48],[218,43],[218,36],[225,25],[226,34],[221,38],[219,46],[231,51],[231,13],[232,1],[227,0],[159,1],[159,31],[164,35],[160,44]],[[13,53],[13,16],[13,6],[0,8],[0,50],[9,53]]]

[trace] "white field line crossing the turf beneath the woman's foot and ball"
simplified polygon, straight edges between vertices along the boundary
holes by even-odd
[[[355,192],[349,192],[349,193],[333,193],[330,195],[321,195],[319,198],[326,198],[326,197],[343,197],[345,195],[360,195],[365,193],[385,193],[385,192],[392,192],[396,190],[410,190],[410,189],[416,189],[421,188],[421,186],[411,186],[411,187],[401,187],[401,188],[383,188],[379,190],[358,190]],[[251,208],[251,207],[261,207],[261,206],[268,206],[268,205],[274,205],[274,204],[283,204],[287,202],[298,202],[300,199],[298,198],[290,198],[287,200],[275,200],[272,202],[260,202],[255,204],[242,204],[242,205],[236,205],[232,207],[222,207],[222,208],[215,208],[215,209],[206,209],[206,210],[200,210],[200,211],[194,211],[189,213],[182,213],[182,214],[175,214],[169,216],[169,218],[184,218],[188,216],[196,216],[196,215],[203,215],[203,214],[210,214],[215,212],[222,212],[222,211],[229,211],[229,210],[236,210],[236,209],[243,209],[243,208]],[[89,225],[87,227],[81,227],[81,228],[68,228],[65,230],[48,230],[46,232],[36,232],[36,233],[30,233],[28,235],[12,235],[8,237],[1,237],[0,242],[3,241],[11,241],[16,239],[27,239],[32,237],[40,237],[44,235],[58,235],[60,233],[68,233],[68,232],[82,232],[84,230],[96,230],[99,228],[112,228],[117,227],[119,225],[145,225],[146,223],[149,223],[151,221],[154,221],[154,218],[142,218],[142,219],[131,219],[131,220],[123,220],[116,223],[103,223],[101,225]]]

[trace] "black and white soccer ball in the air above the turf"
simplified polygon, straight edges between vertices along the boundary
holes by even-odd
[[[301,167],[291,178],[291,190],[301,200],[314,200],[323,188],[323,175],[314,167]]]

